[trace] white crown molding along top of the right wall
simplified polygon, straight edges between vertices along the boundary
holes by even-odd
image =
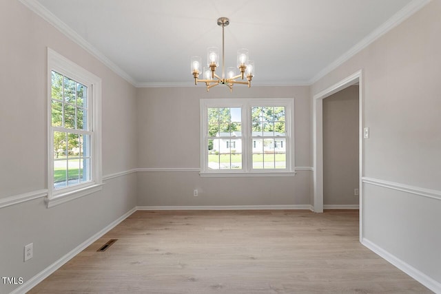
[[[411,17],[411,15],[415,14],[426,6],[431,0],[413,0],[411,3],[407,4],[407,6],[404,6],[400,11],[398,11],[396,14],[393,14],[393,17],[388,19],[385,23],[380,25],[376,30],[373,30],[369,35],[367,35],[362,41],[358,42],[356,45],[354,45],[351,49],[349,49],[345,54],[340,56],[335,61],[329,63],[327,67],[320,70],[318,74],[316,74],[311,80],[309,80],[309,85],[312,85],[316,83],[320,78],[323,76],[326,76],[329,74],[329,72],[332,72],[337,67],[348,61],[352,56],[360,52],[361,50],[367,48],[371,43],[376,41],[380,36],[386,34],[393,28],[395,28],[397,25]]]

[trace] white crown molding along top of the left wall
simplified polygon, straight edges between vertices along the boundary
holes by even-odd
[[[52,14],[52,12],[50,12],[47,8],[42,6],[41,3],[39,3],[37,0],[19,0],[19,1],[23,3],[24,6],[28,7],[32,12],[39,15],[39,17],[41,17],[42,19],[50,23],[52,26],[54,26],[54,28],[62,32],[69,39],[74,41],[74,43],[76,43],[81,48],[92,54],[92,56],[94,56],[104,65],[109,67],[110,70],[121,76],[121,78],[125,79],[125,81],[136,86],[136,81],[134,80],[134,78],[132,78],[132,76],[127,74],[127,72],[121,70],[121,67],[110,61],[110,59],[108,59],[103,53],[101,53],[98,49],[94,48],[92,44],[90,44],[82,36],[77,34],[68,25],[63,23],[61,19],[56,17],[54,14]]]

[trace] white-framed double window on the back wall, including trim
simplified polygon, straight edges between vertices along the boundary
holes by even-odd
[[[294,174],[294,99],[201,99],[201,175]]]

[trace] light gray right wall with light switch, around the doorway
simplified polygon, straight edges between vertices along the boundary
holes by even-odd
[[[438,283],[440,15],[441,1],[429,2],[311,86],[314,95],[362,69],[364,126],[371,131],[370,138],[363,140],[362,176],[376,182],[365,182],[362,187],[364,242]],[[379,186],[381,181],[396,183],[404,191]],[[416,192],[410,192],[409,187]]]

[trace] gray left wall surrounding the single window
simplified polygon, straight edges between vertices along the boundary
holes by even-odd
[[[47,189],[50,47],[103,81],[103,175],[136,167],[136,89],[15,0],[0,1],[0,199]],[[56,207],[43,198],[0,208],[1,277],[26,282],[136,206],[136,174]],[[34,257],[23,262],[23,246]],[[0,293],[14,286],[0,283]]]

